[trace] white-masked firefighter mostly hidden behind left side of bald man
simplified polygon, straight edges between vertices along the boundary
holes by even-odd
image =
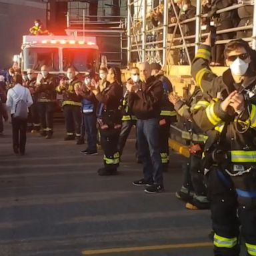
[[[127,83],[139,83],[139,69],[137,67],[131,68],[131,78],[128,79]],[[123,111],[123,117],[122,117],[122,128],[121,133],[119,137],[119,143],[118,143],[118,149],[120,153],[120,157],[123,153],[123,148],[125,147],[125,143],[127,141],[127,138],[129,136],[129,133],[131,132],[131,128],[133,125],[136,125],[137,118],[135,115],[132,114],[131,109],[128,106],[128,95],[129,91],[125,91],[125,94],[123,96],[122,101],[122,111]],[[136,151],[137,151],[137,141],[135,143]],[[139,161],[138,153],[136,152],[137,161]]]

